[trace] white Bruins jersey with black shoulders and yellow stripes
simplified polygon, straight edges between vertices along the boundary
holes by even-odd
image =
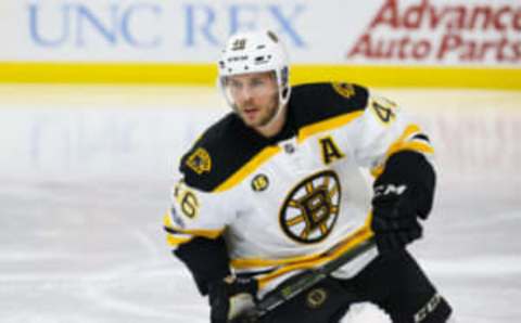
[[[372,235],[364,169],[378,176],[403,150],[433,153],[420,127],[391,101],[348,83],[294,87],[276,138],[263,138],[230,113],[183,156],[165,216],[168,244],[223,235],[233,271],[255,275],[263,295]],[[356,274],[377,253],[335,275]]]

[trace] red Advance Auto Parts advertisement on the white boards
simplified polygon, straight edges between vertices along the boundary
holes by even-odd
[[[386,0],[346,53],[355,62],[521,63],[521,3]]]

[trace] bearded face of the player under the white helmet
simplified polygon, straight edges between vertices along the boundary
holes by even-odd
[[[266,126],[277,113],[277,80],[271,72],[230,76],[226,81],[237,113],[246,126]]]

